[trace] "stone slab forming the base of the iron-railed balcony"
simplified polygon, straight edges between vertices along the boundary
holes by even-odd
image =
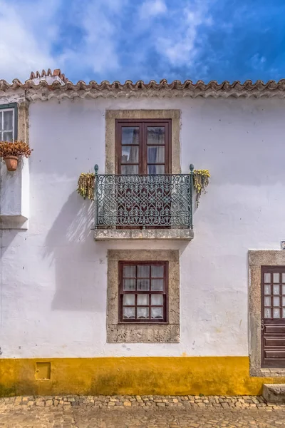
[[[192,240],[192,229],[95,229],[94,239],[105,240]]]

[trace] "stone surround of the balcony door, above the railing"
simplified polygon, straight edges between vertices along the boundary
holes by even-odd
[[[115,119],[171,119],[172,174],[180,174],[180,110],[106,110],[105,174],[115,174]]]

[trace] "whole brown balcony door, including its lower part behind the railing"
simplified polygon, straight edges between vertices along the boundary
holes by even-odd
[[[171,120],[162,121],[116,121],[115,126],[115,173],[119,175],[157,175],[171,174]],[[130,180],[131,182],[131,180]],[[165,198],[170,190],[150,190],[145,180],[145,188],[136,191],[133,185],[118,190],[118,218],[120,213],[125,217],[133,213],[149,218],[155,213],[158,218],[170,211],[170,203]],[[169,195],[168,195],[169,196]],[[169,200],[169,198],[168,198]],[[128,214],[129,213],[129,214]],[[157,215],[158,213],[158,215]],[[122,215],[121,215],[122,217]],[[170,224],[170,218],[168,223]],[[159,225],[158,225],[159,226]],[[168,227],[168,225],[164,225]],[[133,226],[124,226],[131,227]],[[139,225],[137,228],[151,228],[150,225]],[[155,226],[153,226],[155,227]]]

